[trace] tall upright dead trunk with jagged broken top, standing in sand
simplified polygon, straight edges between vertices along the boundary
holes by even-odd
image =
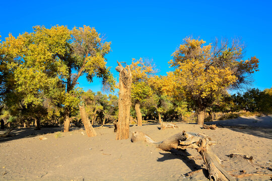
[[[124,68],[121,63],[117,63],[115,70],[119,72],[119,113],[116,140],[121,140],[129,137],[132,74],[128,65]]]

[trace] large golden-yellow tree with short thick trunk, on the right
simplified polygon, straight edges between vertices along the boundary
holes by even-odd
[[[241,60],[244,45],[239,39],[231,43],[218,40],[204,45],[203,40],[185,38],[169,61],[175,67],[176,94],[187,98],[197,113],[197,124],[203,124],[205,111],[226,93],[250,82],[250,74],[258,71],[258,59]]]

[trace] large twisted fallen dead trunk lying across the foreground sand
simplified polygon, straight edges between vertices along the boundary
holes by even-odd
[[[164,141],[156,142],[148,135],[141,132],[133,132],[131,141],[146,141],[152,143],[164,151],[171,149],[195,148],[201,155],[209,171],[210,180],[235,180],[222,166],[221,160],[213,153],[210,145],[215,144],[206,135],[185,132],[177,133]]]

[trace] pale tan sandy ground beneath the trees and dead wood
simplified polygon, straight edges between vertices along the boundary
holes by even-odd
[[[272,117],[228,121],[229,124],[218,122],[225,123],[225,127],[216,130],[177,123],[178,129],[161,131],[159,124],[146,124],[131,126],[130,132],[142,131],[156,141],[182,130],[204,133],[220,143],[213,145],[212,150],[223,160],[227,171],[233,174],[240,170],[272,174],[272,171],[252,166],[246,160],[227,156],[231,153],[252,155],[254,163],[271,167]],[[250,125],[255,123],[258,126]],[[235,124],[243,125],[234,127]],[[13,136],[0,138],[0,180],[208,180],[208,171],[195,149],[171,153],[144,142],[117,141],[112,126],[96,129],[96,137],[87,137],[82,129],[74,128],[69,133],[58,131],[60,128],[16,129]],[[41,136],[47,139],[39,140]],[[188,155],[194,158],[188,158]],[[202,170],[186,177],[187,173],[198,169]],[[270,176],[239,180],[270,180]]]

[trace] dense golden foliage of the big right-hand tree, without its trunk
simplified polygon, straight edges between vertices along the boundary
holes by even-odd
[[[191,100],[196,109],[203,110],[219,99],[221,94],[232,85],[237,77],[227,66],[213,63],[212,45],[204,46],[203,40],[185,38],[169,61],[174,72],[168,73],[166,92],[174,96],[184,96]],[[257,59],[252,59],[257,63]],[[251,67],[248,66],[250,69]],[[172,80],[171,80],[172,79]],[[167,82],[167,81],[166,81]]]

